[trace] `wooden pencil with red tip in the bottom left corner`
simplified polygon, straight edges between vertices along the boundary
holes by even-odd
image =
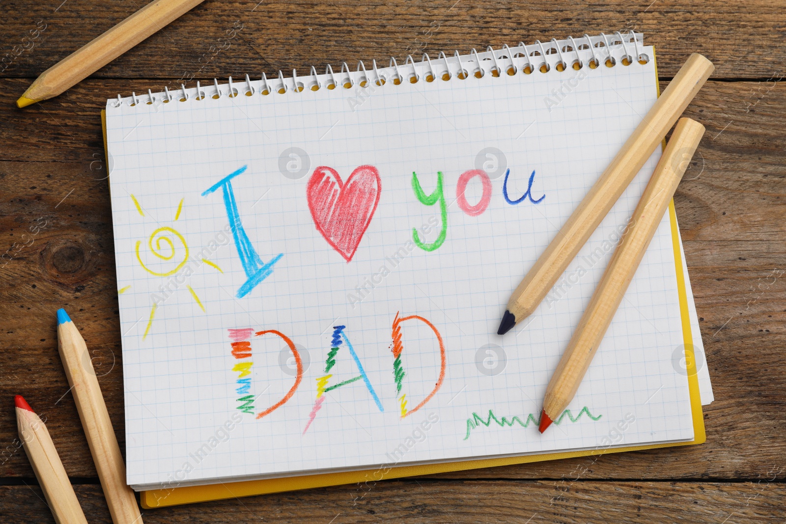
[[[76,493],[68,480],[52,437],[38,415],[21,395],[13,398],[17,405],[17,428],[30,464],[39,479],[46,504],[57,524],[87,524]]]

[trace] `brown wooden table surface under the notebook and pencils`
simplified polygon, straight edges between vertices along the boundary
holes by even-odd
[[[53,100],[14,101],[144,0],[2,2],[0,522],[53,522],[12,395],[46,416],[90,522],[111,522],[57,355],[79,317],[124,447],[112,222],[99,112],[108,97],[246,72],[432,57],[635,29],[665,84],[694,51],[716,71],[686,115],[707,126],[674,200],[715,401],[707,443],[144,511],[145,522],[782,522],[786,507],[786,9],[777,2],[215,2]],[[227,30],[241,27],[233,38]],[[2,58],[5,56],[5,58]],[[37,233],[31,226],[38,225]],[[8,250],[8,251],[6,251]]]

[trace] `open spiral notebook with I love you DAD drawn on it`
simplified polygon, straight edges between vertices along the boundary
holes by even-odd
[[[657,94],[652,46],[616,33],[109,100],[143,505],[703,442],[711,385],[673,206],[574,401],[537,430],[660,148],[538,310],[496,335]]]

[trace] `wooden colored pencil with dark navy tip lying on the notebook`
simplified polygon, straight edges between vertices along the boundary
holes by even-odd
[[[712,62],[700,54],[693,53],[685,61],[601,178],[513,291],[499,324],[499,335],[509,332],[534,312],[712,71]]]

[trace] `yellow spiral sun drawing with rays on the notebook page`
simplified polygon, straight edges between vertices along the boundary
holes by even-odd
[[[139,215],[144,217],[145,211],[142,210],[141,203],[139,203],[134,195],[130,195],[130,197],[131,200],[133,200],[134,207],[136,207]],[[173,222],[177,222],[179,220],[182,210],[183,199],[180,199],[180,203],[178,203],[178,209],[174,213]],[[134,254],[136,255],[136,261],[139,263],[142,269],[145,269],[147,273],[150,273],[155,277],[168,277],[169,282],[166,285],[160,286],[160,290],[162,292],[174,291],[171,289],[171,284],[175,284],[175,290],[178,288],[178,285],[182,284],[179,278],[178,280],[172,279],[172,277],[178,277],[178,273],[180,273],[180,276],[187,273],[185,275],[186,277],[193,273],[193,270],[189,271],[189,246],[185,242],[185,237],[177,229],[169,226],[162,226],[155,229],[148,236],[147,242],[137,240],[136,244],[134,244]],[[145,260],[147,261],[146,263]],[[215,262],[211,262],[207,258],[202,258],[201,262],[211,266],[211,268],[219,271],[219,273],[224,273]],[[123,288],[117,290],[117,294],[123,295],[123,293],[128,291],[130,288],[130,284],[124,286]],[[200,309],[204,311],[204,304],[200,300],[199,295],[196,295],[196,291],[194,291],[193,288],[188,284],[186,284],[185,288],[189,290],[189,294],[191,295],[193,301],[196,302],[196,305],[200,306]],[[163,301],[165,298],[168,298],[168,295],[164,298],[158,297],[156,294],[153,295],[148,323],[145,327],[145,333],[142,335],[143,340],[147,338],[147,335],[150,332],[150,327],[152,326],[153,318],[156,317],[156,309],[159,306],[159,302]]]

